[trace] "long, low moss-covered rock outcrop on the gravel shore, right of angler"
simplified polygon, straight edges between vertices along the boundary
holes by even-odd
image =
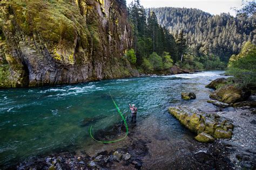
[[[231,138],[233,125],[217,114],[208,114],[188,107],[170,107],[169,113],[176,117],[181,124],[192,132],[196,132],[196,139],[208,143],[214,138]]]

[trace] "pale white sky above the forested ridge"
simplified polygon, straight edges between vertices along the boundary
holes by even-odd
[[[134,0],[126,0],[130,4]],[[140,0],[144,8],[151,7],[179,7],[179,8],[197,8],[213,15],[222,12],[235,16],[235,12],[231,7],[241,8],[241,0]]]

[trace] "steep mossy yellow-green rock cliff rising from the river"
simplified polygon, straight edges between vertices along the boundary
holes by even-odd
[[[0,4],[0,87],[71,84],[137,74],[118,0]]]

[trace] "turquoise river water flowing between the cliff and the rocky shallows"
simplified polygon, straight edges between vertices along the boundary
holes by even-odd
[[[167,108],[185,104],[214,111],[215,107],[206,103],[211,89],[204,86],[210,80],[222,77],[219,75],[221,73],[212,71],[69,86],[2,89],[0,165],[17,163],[33,155],[93,145],[94,141],[89,135],[91,125],[96,132],[121,121],[109,94],[126,116],[130,115],[129,103],[137,105],[137,126],[150,117],[169,129],[166,136],[183,135],[187,130],[176,119],[170,118]],[[194,91],[197,99],[181,100],[182,91]],[[150,128],[149,125],[147,130],[150,131]],[[143,133],[147,133],[147,130]]]

